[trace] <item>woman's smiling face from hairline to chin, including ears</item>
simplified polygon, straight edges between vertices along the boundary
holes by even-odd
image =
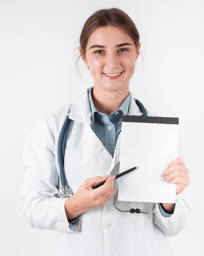
[[[100,90],[129,90],[139,55],[132,38],[120,27],[101,27],[89,37],[82,59]]]

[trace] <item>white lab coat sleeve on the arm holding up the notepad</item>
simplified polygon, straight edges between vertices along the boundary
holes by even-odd
[[[175,236],[186,226],[190,210],[190,187],[188,186],[176,196],[175,209],[170,217],[162,216],[157,204],[154,213],[154,224],[165,236]]]

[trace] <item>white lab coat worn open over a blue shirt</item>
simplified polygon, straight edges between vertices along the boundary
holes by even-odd
[[[24,149],[24,182],[20,188],[26,222],[37,229],[58,231],[54,255],[70,256],[172,256],[166,236],[174,236],[186,225],[189,195],[186,188],[176,198],[171,217],[165,218],[156,208],[154,214],[123,213],[115,209],[113,197],[103,207],[79,216],[69,227],[64,203],[59,198],[59,133],[70,105],[42,117],[37,122]],[[133,97],[128,115],[142,115]],[[148,115],[152,115],[148,111]],[[119,135],[114,157],[108,153],[92,130],[87,91],[73,103],[72,123],[65,153],[65,172],[73,192],[90,177],[117,174],[120,160]],[[118,180],[115,180],[115,186]],[[116,188],[116,187],[115,187]],[[118,202],[121,209],[139,208],[151,211],[152,203]]]

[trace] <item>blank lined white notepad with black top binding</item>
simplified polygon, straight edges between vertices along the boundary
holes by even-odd
[[[161,173],[178,154],[178,118],[123,116],[118,200],[175,203],[176,184]]]

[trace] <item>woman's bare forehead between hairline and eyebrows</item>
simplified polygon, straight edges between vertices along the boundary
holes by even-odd
[[[99,45],[118,45],[121,43],[131,43],[134,45],[132,38],[121,27],[107,26],[99,27],[94,30],[88,38],[87,46],[91,44]]]

